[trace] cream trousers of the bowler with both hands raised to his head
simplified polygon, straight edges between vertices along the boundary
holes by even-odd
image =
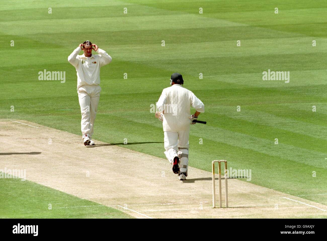
[[[82,135],[94,132],[94,120],[99,104],[101,87],[99,85],[83,85],[77,89],[78,101],[81,107],[81,131]]]

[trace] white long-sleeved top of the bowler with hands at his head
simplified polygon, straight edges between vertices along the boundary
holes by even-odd
[[[86,57],[84,54],[78,55],[82,49],[77,47],[73,53],[68,56],[68,62],[71,63],[77,72],[77,89],[83,85],[100,84],[100,67],[109,64],[112,60],[106,51],[98,49],[98,55],[92,54]]]

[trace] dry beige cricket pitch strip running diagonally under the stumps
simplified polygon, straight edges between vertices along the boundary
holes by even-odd
[[[165,159],[100,141],[85,147],[80,136],[27,121],[0,123],[0,169],[26,169],[29,181],[134,217],[327,217],[326,205],[240,180],[228,182],[230,207],[214,209],[210,172],[190,167],[179,181]]]

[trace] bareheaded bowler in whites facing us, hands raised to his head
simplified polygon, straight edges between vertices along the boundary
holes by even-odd
[[[78,53],[83,50],[83,55]],[[93,55],[94,50],[98,55]],[[79,46],[68,56],[77,72],[77,93],[81,108],[81,131],[85,146],[94,145],[92,135],[94,132],[94,120],[100,99],[100,67],[111,62],[111,56],[89,40]]]

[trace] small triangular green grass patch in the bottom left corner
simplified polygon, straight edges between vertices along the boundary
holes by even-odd
[[[114,208],[29,181],[0,182],[1,218],[131,218]]]

